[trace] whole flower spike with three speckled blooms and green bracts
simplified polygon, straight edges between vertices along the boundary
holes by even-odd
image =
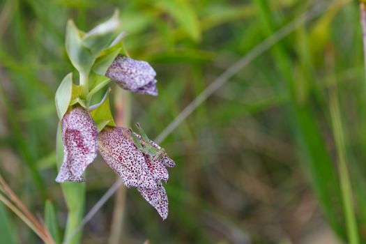
[[[72,20],[68,21],[66,52],[79,73],[79,85],[74,84],[70,73],[56,91],[56,111],[61,120],[63,144],[63,162],[56,182],[84,181],[84,171],[99,151],[125,186],[137,188],[165,220],[168,198],[162,181],[167,183],[167,167],[174,167],[175,163],[164,148],[148,138],[139,123],[136,124],[137,133],[115,127],[109,107],[110,88],[105,86],[111,80],[122,89],[158,96],[155,70],[146,61],[126,56],[122,43],[124,37],[118,10],[109,20],[88,32],[77,29]],[[93,96],[105,88],[107,91],[101,102],[91,105],[95,100]],[[57,150],[58,159],[61,153]],[[77,188],[77,185],[73,184],[73,187]],[[65,196],[68,206],[76,204],[77,208],[82,208],[84,201],[74,202],[72,197]],[[70,218],[74,218],[73,214],[71,211]]]

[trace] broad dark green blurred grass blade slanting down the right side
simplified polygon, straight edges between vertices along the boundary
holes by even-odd
[[[272,34],[275,30],[275,24],[268,3],[264,0],[256,0],[254,2],[259,9],[261,19],[264,23],[264,31],[268,35]],[[344,4],[347,2],[349,1],[344,1]],[[293,70],[293,61],[289,56],[289,52],[287,52],[281,43],[277,43],[273,47],[272,52],[277,69],[286,82],[283,86],[285,86],[292,98],[292,102],[287,108],[287,118],[289,121],[294,119],[291,125],[293,131],[297,133],[296,139],[300,148],[303,148],[303,151],[305,151],[305,167],[310,172],[310,179],[314,191],[317,194],[326,220],[328,220],[335,232],[344,238],[343,222],[339,218],[339,211],[337,210],[337,206],[341,202],[339,185],[314,113],[306,104],[298,103],[298,93],[295,92],[296,81],[293,80],[293,74],[291,72]],[[281,88],[279,84],[275,85],[279,89]]]

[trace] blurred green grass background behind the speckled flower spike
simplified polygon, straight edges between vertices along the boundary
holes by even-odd
[[[34,214],[52,200],[63,229],[54,92],[72,69],[69,18],[89,30],[121,11],[130,56],[158,73],[158,98],[131,96],[132,122],[154,138],[215,77],[317,2],[0,0],[1,174]],[[349,169],[366,243],[364,73],[358,3],[332,1],[169,135],[169,217],[162,222],[128,190],[121,243],[348,243],[338,162]],[[114,180],[100,158],[88,168],[87,210]],[[111,199],[84,228],[83,243],[107,243],[113,209]],[[3,206],[0,236],[39,243]]]

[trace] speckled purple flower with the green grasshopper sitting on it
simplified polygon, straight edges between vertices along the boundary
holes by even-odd
[[[168,215],[168,199],[161,181],[168,180],[166,167],[174,167],[174,161],[167,155],[158,160],[142,153],[135,146],[130,133],[125,128],[109,127],[102,130],[98,135],[100,154],[109,167],[121,176],[123,183],[128,188],[136,187],[165,220]],[[160,149],[155,143],[153,146]]]

